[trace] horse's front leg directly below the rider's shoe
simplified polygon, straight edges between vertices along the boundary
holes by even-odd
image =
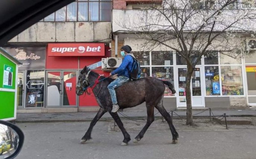
[[[113,117],[113,119],[115,120],[115,122],[117,123],[117,126],[121,129],[123,135],[124,135],[124,140],[121,143],[121,146],[126,146],[128,145],[128,142],[131,140],[129,133],[127,133],[127,131],[124,129],[124,125],[121,122],[120,117],[117,115],[116,113],[112,113],[111,111],[109,112],[110,115]]]

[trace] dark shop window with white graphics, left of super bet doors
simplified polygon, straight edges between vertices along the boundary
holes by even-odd
[[[44,105],[44,70],[27,70],[26,107]]]

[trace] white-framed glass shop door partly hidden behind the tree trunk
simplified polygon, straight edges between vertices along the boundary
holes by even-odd
[[[178,98],[177,106],[186,107],[186,67],[178,67]],[[202,80],[201,80],[200,68],[195,68],[191,79],[191,94],[192,94],[192,107],[203,107],[203,97],[202,97]]]

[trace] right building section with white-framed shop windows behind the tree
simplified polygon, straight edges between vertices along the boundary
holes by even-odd
[[[199,1],[198,1],[199,2]],[[201,2],[201,1],[200,1]],[[143,13],[145,19],[151,20],[153,16],[144,9],[150,4],[162,5],[162,1],[135,1],[114,0],[113,1],[113,37],[133,48],[133,54],[142,65],[143,76],[153,76],[159,79],[169,80],[175,86],[177,94],[165,90],[165,105],[171,108],[186,107],[186,62],[180,54],[165,46],[145,49],[141,47],[144,39],[139,39],[131,32],[129,26],[136,27],[139,22],[136,15]],[[211,7],[215,2],[212,1]],[[202,9],[206,3],[202,3]],[[236,6],[246,8],[248,6]],[[252,4],[255,8],[255,1]],[[231,11],[236,11],[231,10]],[[145,14],[146,13],[146,14]],[[148,14],[147,14],[148,13]],[[118,20],[119,21],[118,21]],[[152,21],[158,19],[153,19]],[[120,22],[121,21],[121,22]],[[125,24],[125,22],[130,24]],[[160,23],[161,24],[161,23]],[[249,25],[249,23],[248,23]],[[131,27],[131,28],[132,28]],[[250,46],[249,55],[241,59],[233,59],[221,54],[218,50],[206,54],[194,68],[191,81],[192,107],[246,107],[256,106],[256,52],[255,37],[247,35],[245,41],[253,42]],[[241,41],[242,42],[242,41]],[[170,43],[177,43],[175,40]]]

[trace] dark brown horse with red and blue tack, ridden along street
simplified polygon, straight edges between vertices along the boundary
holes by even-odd
[[[86,68],[86,66],[80,72],[78,84],[76,86],[76,94],[82,95],[85,92],[86,87],[94,87],[92,92],[94,93],[100,107],[97,115],[92,120],[87,132],[82,137],[81,143],[85,143],[87,140],[91,139],[92,128],[106,112],[110,113],[110,115],[116,121],[118,127],[121,129],[124,135],[124,140],[121,145],[127,145],[128,142],[131,140],[130,135],[124,129],[123,123],[121,122],[117,112],[111,112],[112,102],[107,86],[113,80],[114,79],[111,78],[105,78],[104,76],[99,77],[98,73],[89,70],[88,68]],[[97,81],[99,81],[99,83]],[[127,82],[116,89],[117,102],[120,106],[120,109],[135,107],[143,102],[146,102],[148,119],[146,125],[135,137],[133,142],[137,143],[143,138],[146,130],[154,121],[154,108],[156,108],[168,122],[168,125],[171,129],[171,134],[173,136],[172,143],[177,143],[178,133],[173,126],[170,114],[165,110],[163,106],[165,90],[164,84],[168,85],[169,89],[171,89],[173,93],[176,92],[170,82],[162,81],[153,77],[146,77],[139,80]]]

